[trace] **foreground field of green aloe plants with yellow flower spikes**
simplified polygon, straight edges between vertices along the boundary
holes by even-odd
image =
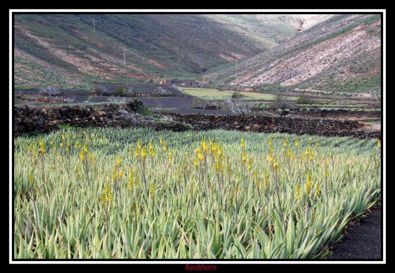
[[[14,138],[16,259],[322,258],[381,198],[381,142],[62,129]]]

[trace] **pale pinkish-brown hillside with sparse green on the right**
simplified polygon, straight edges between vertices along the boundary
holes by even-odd
[[[217,68],[215,84],[266,90],[380,91],[379,15],[336,15],[236,68]]]

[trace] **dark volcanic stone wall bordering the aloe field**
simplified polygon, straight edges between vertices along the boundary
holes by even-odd
[[[381,131],[364,132],[360,124],[351,120],[321,118],[292,118],[248,115],[154,114],[142,116],[138,100],[126,104],[61,107],[14,107],[14,136],[32,132],[49,132],[59,125],[73,127],[134,127],[150,126],[156,130],[225,129],[265,133],[309,134],[318,136],[349,136],[380,138]]]

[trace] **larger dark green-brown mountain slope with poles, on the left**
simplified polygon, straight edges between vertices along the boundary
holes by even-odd
[[[15,87],[84,88],[89,82],[195,77],[265,52],[291,39],[309,22],[314,25],[329,17],[15,14]]]

